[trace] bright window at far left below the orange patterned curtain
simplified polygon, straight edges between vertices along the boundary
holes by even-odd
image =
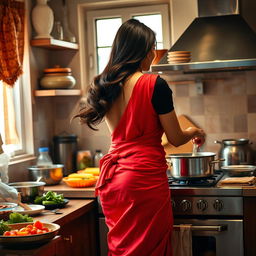
[[[25,20],[27,24],[27,20]],[[29,38],[25,25],[25,46],[23,57],[23,75],[19,77],[13,88],[7,88],[5,92],[9,93],[8,97],[13,99],[13,113],[15,123],[11,121],[11,125],[15,128],[18,140],[15,143],[5,144],[4,125],[4,95],[3,82],[0,81],[0,133],[3,138],[3,149],[11,156],[11,162],[19,161],[31,156],[34,153],[33,146],[33,121],[32,121],[32,98],[30,86],[30,68],[29,68]],[[8,104],[9,105],[9,104]],[[9,106],[8,106],[9,107]],[[8,110],[9,113],[9,110]]]

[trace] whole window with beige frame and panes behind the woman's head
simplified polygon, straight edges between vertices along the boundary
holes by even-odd
[[[89,11],[87,42],[90,80],[103,71],[118,28],[130,18],[138,19],[156,33],[157,49],[170,47],[168,5]]]

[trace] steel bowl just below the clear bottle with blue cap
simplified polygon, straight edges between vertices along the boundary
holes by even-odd
[[[63,178],[63,164],[48,166],[31,166],[28,168],[29,178],[33,181],[45,182],[45,185],[57,185]]]

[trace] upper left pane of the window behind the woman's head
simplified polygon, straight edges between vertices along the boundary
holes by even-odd
[[[121,24],[121,18],[96,20],[97,47],[111,46]]]

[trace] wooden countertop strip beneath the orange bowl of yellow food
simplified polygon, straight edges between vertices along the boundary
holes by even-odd
[[[63,194],[66,198],[88,198],[95,199],[95,187],[87,188],[71,188],[64,182],[54,186],[45,186],[45,191],[54,191],[59,194]]]

